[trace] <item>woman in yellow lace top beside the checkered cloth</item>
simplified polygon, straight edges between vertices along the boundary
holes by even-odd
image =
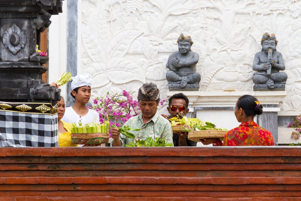
[[[72,125],[70,123],[61,121],[64,114],[65,114],[65,101],[61,97],[61,100],[57,102],[58,144],[59,144],[59,147],[78,146],[77,144],[72,144],[72,140],[71,140]]]

